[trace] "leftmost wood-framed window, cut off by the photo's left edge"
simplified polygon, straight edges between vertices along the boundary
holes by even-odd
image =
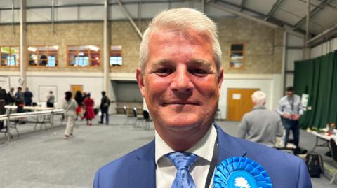
[[[18,66],[20,57],[18,46],[0,47],[0,66]]]

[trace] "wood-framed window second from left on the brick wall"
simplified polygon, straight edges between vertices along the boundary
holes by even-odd
[[[28,47],[29,66],[58,66],[58,45]]]

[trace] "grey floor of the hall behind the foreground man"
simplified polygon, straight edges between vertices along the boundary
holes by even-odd
[[[55,118],[56,119],[56,118]],[[18,126],[20,137],[12,143],[4,143],[0,134],[0,187],[92,187],[93,176],[100,166],[121,157],[131,150],[145,145],[154,137],[154,131],[121,125],[124,117],[114,115],[109,126],[86,126],[78,121],[74,138],[62,138],[65,126],[54,129],[38,129],[34,124]],[[64,123],[63,123],[64,124]],[[227,133],[236,135],[238,122],[220,122]],[[12,129],[12,132],[15,132]],[[301,132],[304,147],[310,148],[315,137]],[[305,143],[305,144],[304,144]],[[317,149],[318,150],[318,149]],[[326,152],[325,148],[319,148]],[[313,187],[332,188],[329,180],[312,178]]]

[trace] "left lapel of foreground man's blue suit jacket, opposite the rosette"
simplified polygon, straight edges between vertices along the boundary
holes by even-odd
[[[156,187],[156,165],[154,162],[154,140],[136,156],[129,167],[130,187]]]

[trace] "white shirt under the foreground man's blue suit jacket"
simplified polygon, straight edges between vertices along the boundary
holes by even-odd
[[[209,173],[209,167],[213,157],[214,144],[216,143],[216,135],[216,128],[212,125],[197,144],[185,151],[199,156],[197,161],[190,168],[190,174],[197,188],[205,187],[207,174]],[[155,140],[155,160],[157,164],[156,187],[168,188],[171,187],[176,177],[177,169],[165,155],[174,152],[174,150],[161,139],[157,131],[155,133]],[[209,187],[213,187],[213,179]]]

